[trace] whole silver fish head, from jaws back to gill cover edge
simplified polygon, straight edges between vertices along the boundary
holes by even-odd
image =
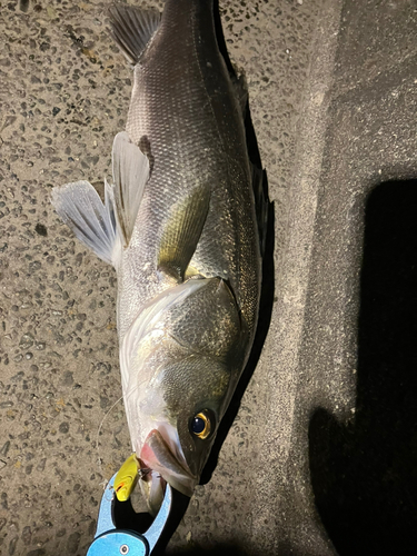
[[[178,287],[188,295],[165,300],[165,311],[151,310],[129,360],[139,384],[125,404],[150,508],[162,499],[163,481],[192,495],[244,364],[245,334],[228,287],[198,282],[191,291]]]

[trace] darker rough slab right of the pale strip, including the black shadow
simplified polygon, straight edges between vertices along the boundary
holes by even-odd
[[[346,1],[340,21],[299,366],[320,376],[310,471],[340,555],[406,554],[417,524],[416,182],[399,180],[417,167],[416,10]]]

